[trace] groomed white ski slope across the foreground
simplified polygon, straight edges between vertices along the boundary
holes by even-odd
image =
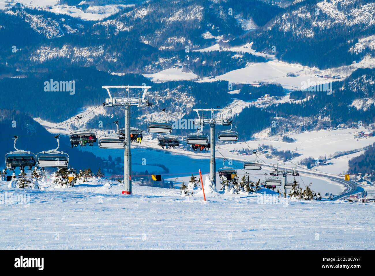
[[[375,204],[289,201],[261,194],[184,197],[177,189],[109,180],[68,189],[7,188],[30,204],[0,204],[0,249],[374,249]]]

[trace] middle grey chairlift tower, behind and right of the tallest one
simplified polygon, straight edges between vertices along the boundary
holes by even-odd
[[[208,124],[210,126],[210,179],[216,185],[216,161],[215,161],[215,125],[229,125],[231,120],[228,119],[228,115],[231,113],[229,109],[193,109],[198,115],[198,118],[195,119],[195,123],[201,126]],[[202,112],[202,117],[199,115],[199,111]],[[203,111],[210,111],[211,117],[203,117]],[[224,112],[220,118],[214,118],[214,112],[220,111]]]

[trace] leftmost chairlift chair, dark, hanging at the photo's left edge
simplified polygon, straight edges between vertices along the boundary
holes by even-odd
[[[5,154],[5,164],[9,170],[15,170],[17,167],[23,169],[28,167],[32,169],[35,166],[36,155],[30,151],[26,150],[18,150],[16,148],[16,141],[18,136],[14,136],[14,148],[15,151],[10,151],[9,153]]]

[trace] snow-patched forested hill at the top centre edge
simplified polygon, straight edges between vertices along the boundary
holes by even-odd
[[[229,8],[232,12],[228,12]],[[119,31],[132,30],[139,41],[158,49],[193,49],[215,39],[242,34],[255,24],[263,25],[279,10],[259,1],[175,1],[171,6],[168,1],[157,0],[98,24],[114,26]]]

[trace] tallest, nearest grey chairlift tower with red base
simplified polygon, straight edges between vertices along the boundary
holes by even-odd
[[[125,107],[124,115],[125,115],[125,137],[126,137],[126,147],[124,149],[124,190],[123,194],[130,195],[132,193],[132,153],[130,150],[130,107],[150,107],[152,104],[148,102],[148,99],[145,99],[147,90],[151,88],[151,86],[102,86],[102,88],[106,89],[110,98],[105,99],[105,106],[113,107],[113,106],[123,106]],[[125,89],[125,95],[123,97],[112,97],[110,89]],[[129,89],[130,88],[141,88],[143,93],[139,93],[138,97],[130,97],[129,96]]]

